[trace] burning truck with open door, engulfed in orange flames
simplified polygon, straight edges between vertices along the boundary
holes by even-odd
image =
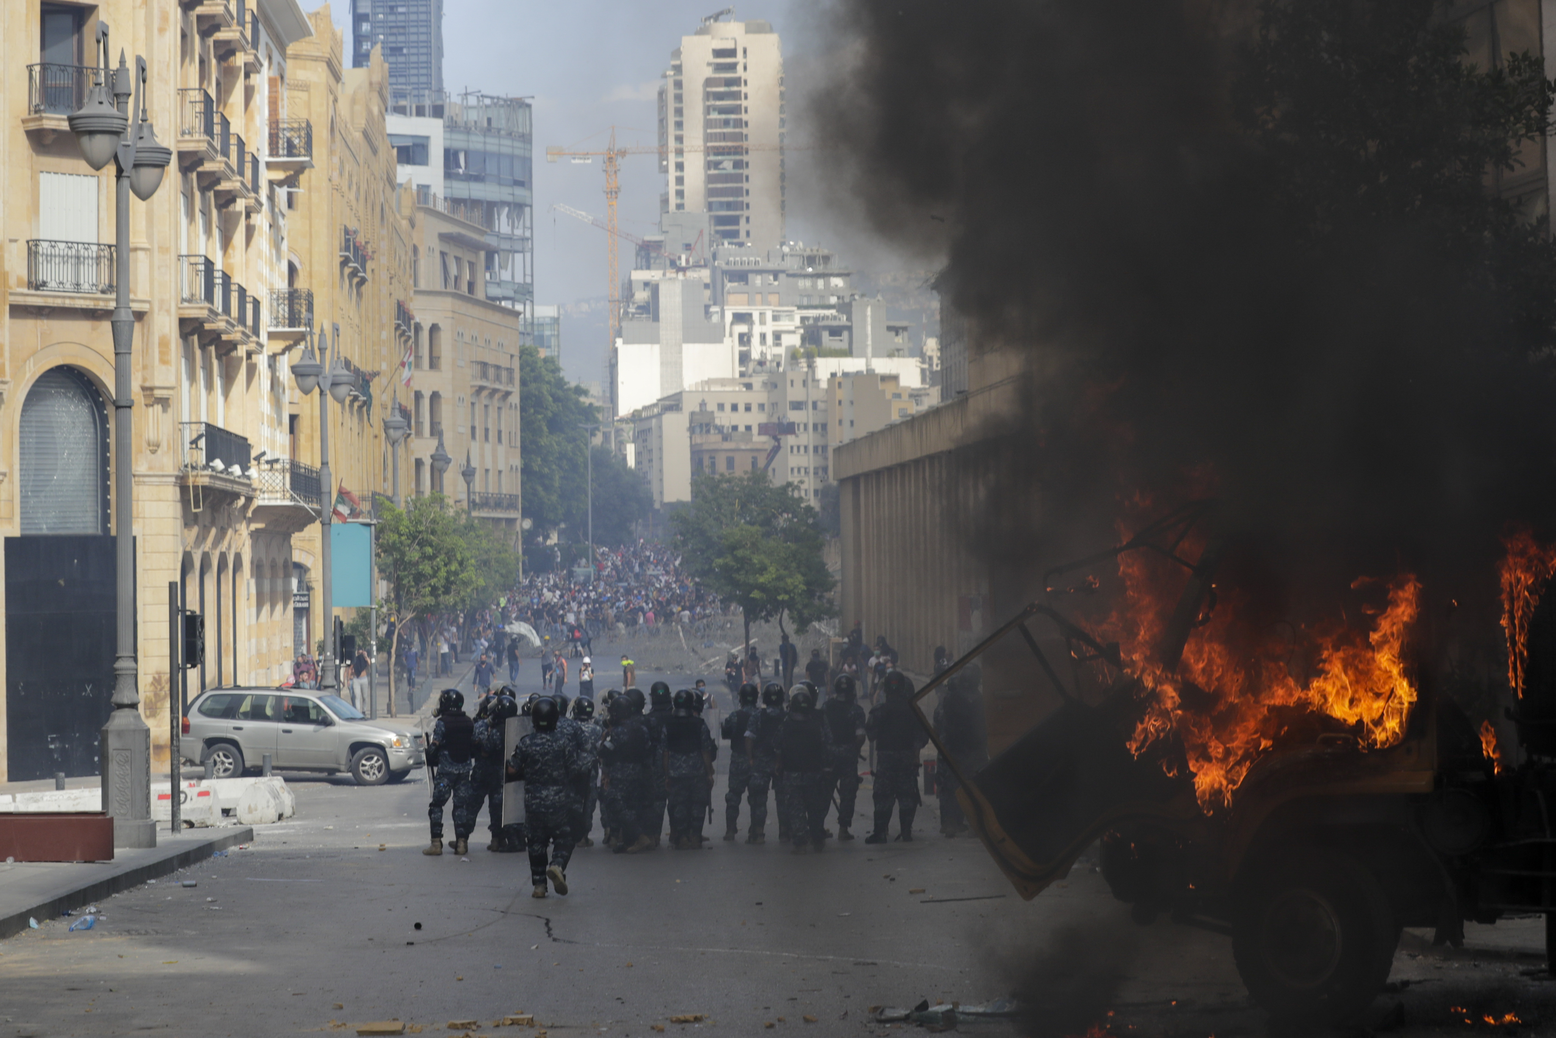
[[[1344,588],[1338,615],[1276,615],[1226,580],[1239,546],[1214,528],[1212,503],[1189,504],[1050,570],[1044,602],[915,697],[932,738],[926,697],[980,697],[987,761],[935,741],[1021,895],[1100,840],[1136,921],[1228,934],[1284,1019],[1365,1010],[1407,926],[1458,945],[1467,920],[1545,914],[1556,954],[1556,549],[1505,543],[1516,755],[1425,644],[1456,602],[1427,618],[1421,582],[1396,574]]]

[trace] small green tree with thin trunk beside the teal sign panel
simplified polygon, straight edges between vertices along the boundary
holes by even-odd
[[[406,621],[457,608],[481,587],[481,552],[471,548],[468,518],[433,493],[406,507],[384,503],[378,517],[378,574],[389,584],[381,608],[394,618],[389,644],[389,716],[395,710],[395,669]]]

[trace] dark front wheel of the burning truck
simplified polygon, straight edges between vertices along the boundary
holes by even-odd
[[[1281,1019],[1357,1016],[1388,980],[1399,940],[1382,887],[1333,851],[1265,862],[1243,885],[1232,931],[1243,984]]]

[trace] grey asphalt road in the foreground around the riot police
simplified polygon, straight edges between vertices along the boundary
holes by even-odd
[[[420,783],[289,781],[297,817],[257,829],[249,850],[110,898],[92,931],[44,921],[0,943],[0,1038],[355,1033],[336,1026],[391,1018],[535,1033],[493,1027],[510,1013],[532,1013],[551,1038],[652,1038],[655,1026],[892,1035],[920,1029],[876,1024],[870,1007],[1018,988],[1039,1010],[1033,1033],[1091,1022],[1119,1038],[1282,1033],[1249,1005],[1226,938],[1134,928],[1086,865],[1024,903],[976,842],[935,833],[932,808],[912,843],[812,856],[717,839],[630,857],[582,850],[571,893],[537,901],[524,856],[484,850],[484,819],[468,861],[420,853]],[[1556,984],[1523,976],[1533,965],[1402,951],[1394,980],[1411,985],[1380,998],[1376,1022],[1399,1035],[1553,1033]],[[1483,1021],[1509,1012],[1523,1022]],[[680,1013],[705,1019],[671,1022]]]

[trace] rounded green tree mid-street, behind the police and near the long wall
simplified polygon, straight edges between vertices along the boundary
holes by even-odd
[[[834,615],[817,514],[792,486],[773,486],[764,472],[700,475],[691,496],[671,515],[672,543],[691,576],[741,607],[745,644],[752,621],[781,626],[787,615],[803,632]]]

